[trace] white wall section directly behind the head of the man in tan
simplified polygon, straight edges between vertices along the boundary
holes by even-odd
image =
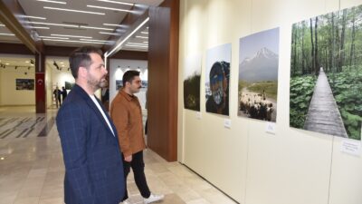
[[[139,69],[139,70],[138,70]],[[118,93],[116,90],[116,80],[122,80],[123,73],[128,70],[138,70],[142,81],[148,81],[148,61],[144,60],[117,60],[110,59],[110,102]],[[147,89],[141,89],[137,97],[142,109],[145,109]]]

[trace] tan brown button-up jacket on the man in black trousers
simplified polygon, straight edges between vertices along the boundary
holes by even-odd
[[[119,90],[110,104],[110,118],[119,134],[119,146],[124,157],[146,149],[143,138],[142,111],[137,96]]]

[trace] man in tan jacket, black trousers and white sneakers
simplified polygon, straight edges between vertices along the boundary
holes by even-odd
[[[123,167],[126,181],[126,192],[123,203],[129,203],[127,193],[127,176],[132,168],[135,182],[145,203],[151,203],[163,199],[163,195],[155,195],[148,189],[145,176],[145,163],[143,150],[146,143],[143,137],[142,111],[137,96],[141,80],[139,72],[130,70],[123,75],[123,88],[110,104],[110,117],[113,120],[119,135],[119,146],[123,156]]]

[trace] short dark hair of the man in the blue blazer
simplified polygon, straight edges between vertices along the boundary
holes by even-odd
[[[71,74],[75,79],[78,78],[78,70],[81,66],[90,67],[90,53],[98,53],[100,56],[103,54],[99,48],[94,46],[82,46],[71,53],[69,64],[71,66]]]

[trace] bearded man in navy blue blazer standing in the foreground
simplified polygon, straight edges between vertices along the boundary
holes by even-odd
[[[94,92],[107,85],[99,49],[71,53],[75,85],[56,122],[65,165],[66,204],[119,204],[125,181],[116,128]]]

